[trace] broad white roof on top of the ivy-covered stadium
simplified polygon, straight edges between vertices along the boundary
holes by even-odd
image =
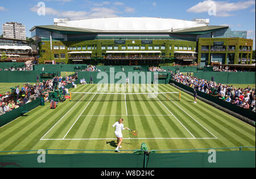
[[[72,20],[54,19],[54,24],[63,27],[95,29],[104,32],[152,32],[152,31],[179,31],[187,28],[204,27],[209,19],[194,21],[163,18],[100,18]]]

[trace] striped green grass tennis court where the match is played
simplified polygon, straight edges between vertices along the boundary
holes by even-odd
[[[168,84],[158,88],[159,92],[181,92]],[[94,93],[73,93],[72,101],[56,109],[49,109],[48,103],[1,127],[0,151],[115,150],[112,125],[121,117],[125,127],[138,131],[137,136],[123,131],[122,150],[139,149],[143,142],[149,150],[255,147],[255,127],[203,101],[193,104],[193,96],[184,92],[180,101],[177,94],[169,95],[167,101],[166,94],[155,99],[98,94],[97,85],[90,84],[69,91]]]

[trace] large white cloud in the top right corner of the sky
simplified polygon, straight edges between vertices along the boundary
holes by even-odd
[[[240,1],[235,3],[207,0],[197,3],[197,5],[189,8],[187,12],[201,13],[213,10],[216,12],[216,14],[214,14],[215,16],[226,17],[233,16],[234,14],[230,14],[232,11],[244,10],[253,5],[255,5],[254,0]]]

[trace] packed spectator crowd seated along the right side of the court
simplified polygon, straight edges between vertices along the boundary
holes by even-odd
[[[226,84],[216,83],[213,80],[199,79],[195,76],[185,74],[172,74],[173,79],[185,86],[198,91],[217,96],[228,103],[233,103],[241,108],[250,109],[255,112],[255,88],[237,88]],[[213,79],[213,78],[212,78]]]

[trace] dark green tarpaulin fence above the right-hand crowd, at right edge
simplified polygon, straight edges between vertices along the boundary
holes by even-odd
[[[213,76],[214,82],[222,84],[255,84],[255,72],[196,72],[193,75],[206,80],[211,80]]]

